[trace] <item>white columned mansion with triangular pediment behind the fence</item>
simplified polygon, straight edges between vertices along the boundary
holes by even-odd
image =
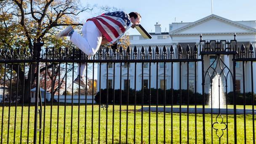
[[[220,16],[216,16],[214,14],[207,16],[203,19],[200,19],[195,22],[180,22],[180,23],[172,23],[169,24],[169,32],[161,32],[161,25],[155,24],[155,33],[150,33],[152,35],[152,39],[145,39],[141,37],[141,35],[130,35],[131,48],[134,45],[138,49],[141,49],[144,46],[145,49],[149,48],[149,45],[155,49],[156,46],[158,48],[163,49],[165,45],[167,48],[173,46],[174,50],[178,45],[181,45],[182,48],[186,48],[187,45],[194,47],[194,45],[199,45],[200,42],[200,34],[203,35],[203,40],[234,40],[234,33],[237,35],[237,46],[241,46],[242,43],[245,46],[250,44],[253,45],[253,48],[256,46],[256,21],[231,21],[229,19],[225,19]],[[200,53],[198,48],[198,53]],[[197,57],[201,59],[200,56]],[[209,65],[213,62],[213,56],[205,56],[204,57],[204,66],[209,67]],[[221,59],[224,60],[224,63],[232,69],[232,56],[221,56]],[[113,75],[113,64],[109,64],[109,72],[108,72],[108,82],[107,82],[107,64],[101,65],[101,75],[99,75],[99,67],[98,67],[98,82],[97,88],[99,91],[99,78],[101,77],[101,88],[104,89],[107,87],[107,83],[109,88],[113,88],[113,81],[115,77],[115,89],[124,89],[127,87],[127,67],[123,64],[122,72],[120,72],[120,63],[115,64],[115,75]],[[143,83],[144,87],[149,88],[149,63],[144,64],[144,80],[141,81],[142,76],[142,66],[141,63],[138,63],[136,66],[136,75],[135,75],[135,67],[134,63],[130,64],[129,67],[129,83],[130,88],[134,88],[135,85],[135,77],[136,77],[136,90],[141,89],[141,85]],[[195,89],[195,69],[197,69],[197,92],[202,93],[202,63],[197,62],[197,66],[195,67],[194,63],[189,63],[189,89],[194,91]],[[256,64],[253,63],[253,69],[256,69]],[[165,87],[166,89],[171,88],[171,63],[166,63],[165,66]],[[156,75],[156,63],[151,63],[151,88],[156,88],[156,84],[158,83],[158,88],[163,89],[164,83],[164,64],[158,64],[158,80]],[[121,73],[121,80],[120,80]],[[226,70],[227,73],[227,70]],[[179,63],[173,63],[173,88],[179,89]],[[181,66],[181,88],[187,89],[187,64],[182,63]],[[248,82],[248,83],[246,83]],[[206,89],[209,89],[210,81],[206,80],[205,85]],[[243,91],[243,69],[242,64],[237,62],[236,65],[236,82],[237,90]],[[229,75],[227,80],[227,92],[233,91],[232,89],[232,79],[231,75]],[[253,80],[254,90],[256,89],[256,80]],[[245,91],[251,91],[251,64],[245,64]]]

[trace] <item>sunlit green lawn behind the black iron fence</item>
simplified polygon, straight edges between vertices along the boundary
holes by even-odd
[[[148,106],[145,106],[148,107]],[[155,107],[155,106],[152,106]],[[162,107],[162,106],[161,106]],[[175,106],[179,107],[179,106]],[[186,107],[186,106],[182,106]],[[193,106],[190,106],[193,107]],[[198,106],[202,107],[202,106]],[[232,108],[233,106],[228,106]],[[2,108],[0,107],[0,121],[2,121]],[[3,143],[7,143],[8,139],[8,108],[4,107],[4,119],[3,119]],[[136,109],[140,109],[141,106],[136,106]],[[237,108],[243,108],[243,106],[237,106]],[[251,108],[251,106],[246,106]],[[78,137],[78,106],[73,106],[73,117],[71,117],[72,106],[66,107],[66,128],[65,128],[65,143],[70,143],[70,134],[72,133],[72,143],[77,143]],[[126,133],[126,106],[122,106],[121,111],[121,143],[125,143]],[[134,128],[134,106],[128,107],[128,143],[133,143],[133,128]],[[34,107],[30,107],[29,117],[29,143],[33,142],[33,129],[34,129]],[[58,106],[53,106],[52,109],[52,130],[51,130],[51,142],[56,143],[57,138],[57,112]],[[106,120],[107,120],[107,141],[112,143],[112,112],[113,107],[108,108],[108,118],[106,118],[106,109],[100,109],[100,143],[106,141]],[[93,114],[93,120],[92,120]],[[114,143],[119,143],[119,105],[115,105],[114,110]],[[16,114],[16,135],[15,143],[20,141],[20,128],[21,121],[23,123],[22,128],[22,143],[27,143],[27,127],[28,127],[28,107],[24,107],[23,119],[21,120],[21,107],[17,107]],[[224,123],[227,122],[227,116],[224,117]],[[45,143],[50,141],[50,117],[51,106],[46,107],[45,113]],[[156,143],[156,112],[150,113],[150,142]],[[71,132],[71,120],[72,132]],[[213,123],[216,121],[216,115],[213,115]],[[10,130],[9,130],[9,142],[13,143],[14,137],[14,122],[15,122],[15,107],[11,107],[10,111]],[[86,134],[85,134],[85,105],[80,106],[80,118],[79,118],[79,143],[91,143],[91,132],[93,122],[93,143],[98,143],[98,129],[99,129],[99,105],[94,105],[93,112],[92,106],[87,106],[86,115]],[[253,126],[252,115],[246,115],[246,143],[253,143]],[[211,143],[211,130],[213,130],[213,143],[219,143],[219,138],[216,136],[216,131],[211,126],[211,115],[205,115],[205,137],[206,143]],[[1,125],[1,124],[0,124]],[[43,124],[42,124],[43,125]],[[136,112],[136,143],[141,143],[141,112]],[[165,115],[165,130],[166,130],[166,143],[171,143],[171,113]],[[179,143],[179,114],[173,113],[173,143]],[[164,136],[164,114],[158,113],[158,143],[163,143]],[[195,114],[189,114],[189,143],[195,143],[195,137],[197,137],[197,143],[203,143],[203,115],[197,114],[197,136],[195,136]],[[64,106],[59,106],[59,143],[63,143],[64,139]],[[43,140],[43,133],[42,133]],[[149,112],[143,112],[143,141],[145,144],[149,143]],[[181,143],[187,143],[187,114],[181,114]],[[224,130],[224,135],[221,137],[221,143],[227,143],[227,129]],[[228,116],[228,143],[234,143],[234,116]],[[237,143],[244,143],[244,120],[243,115],[237,115]]]

